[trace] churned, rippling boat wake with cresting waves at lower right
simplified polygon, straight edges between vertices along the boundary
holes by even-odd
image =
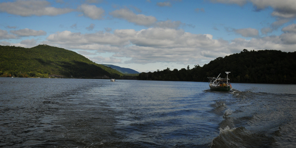
[[[219,96],[211,105],[218,119],[219,135],[211,148],[291,148],[296,133],[295,95],[239,91]],[[222,120],[221,120],[222,119]],[[284,138],[285,137],[285,138]],[[293,140],[295,141],[295,140]]]

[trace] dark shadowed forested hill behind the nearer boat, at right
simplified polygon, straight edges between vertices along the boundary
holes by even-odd
[[[231,82],[296,84],[296,52],[277,50],[248,51],[219,57],[190,69],[171,71],[169,68],[158,72],[141,73],[142,80],[208,81],[207,77],[226,77]]]

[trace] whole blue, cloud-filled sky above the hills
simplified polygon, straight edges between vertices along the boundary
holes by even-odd
[[[296,51],[296,0],[0,0],[0,45],[47,44],[138,72]]]

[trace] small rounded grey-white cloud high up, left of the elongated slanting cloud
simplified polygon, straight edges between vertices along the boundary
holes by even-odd
[[[89,17],[93,20],[101,20],[103,19],[105,10],[102,8],[98,8],[95,5],[89,5],[89,4],[82,4],[78,8],[84,16]]]

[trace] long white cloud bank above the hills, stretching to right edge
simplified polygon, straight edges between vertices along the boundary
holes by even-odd
[[[248,30],[242,29],[237,32],[246,34],[245,36],[258,34],[258,31],[254,30],[251,30],[251,32],[255,32],[251,35],[244,33]],[[57,45],[66,49],[113,53],[110,58],[98,56],[91,59],[98,63],[173,62],[200,64],[207,63],[216,57],[238,53],[242,49],[295,51],[296,34],[292,33],[293,29],[290,29],[289,26],[285,30],[287,30],[287,33],[281,36],[256,37],[249,40],[235,38],[230,42],[214,39],[210,34],[191,34],[182,29],[171,28],[148,28],[140,31],[132,29],[114,30],[113,34],[108,32],[81,34],[64,31],[49,35],[46,44]],[[121,61],[121,57],[130,60]]]

